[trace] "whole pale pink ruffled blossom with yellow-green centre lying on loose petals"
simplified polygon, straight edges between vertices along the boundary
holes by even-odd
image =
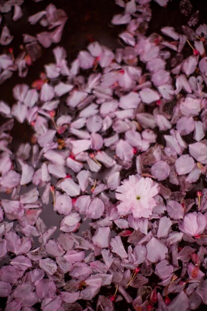
[[[116,193],[116,198],[122,201],[117,206],[120,215],[132,213],[134,218],[148,218],[152,214],[152,209],[156,205],[153,197],[158,193],[158,184],[151,178],[138,179],[131,175],[116,191],[119,192]]]

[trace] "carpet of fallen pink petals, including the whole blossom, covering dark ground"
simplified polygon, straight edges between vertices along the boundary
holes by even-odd
[[[5,311],[207,304],[207,189],[194,191],[207,175],[207,25],[197,27],[194,12],[182,33],[166,26],[147,36],[150,2],[116,0],[123,13],[112,24],[126,25],[119,35],[126,46],[112,51],[94,41],[70,63],[56,46],[40,79],[18,81],[12,105],[0,101]],[[22,3],[3,0],[0,10],[14,6],[17,20]],[[190,0],[180,9],[189,15]],[[53,4],[30,16],[48,29],[25,34],[25,49],[60,42],[66,20]],[[0,44],[10,42],[4,26]],[[0,55],[0,83],[16,70],[26,76],[22,53]],[[13,152],[16,122],[34,134]]]

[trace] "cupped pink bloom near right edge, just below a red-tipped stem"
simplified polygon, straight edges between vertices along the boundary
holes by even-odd
[[[179,225],[179,229],[191,236],[202,234],[206,229],[207,221],[202,213],[189,213],[185,216],[183,223]]]

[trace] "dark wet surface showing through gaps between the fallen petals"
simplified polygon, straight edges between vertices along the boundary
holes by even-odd
[[[44,0],[42,2],[35,3],[31,0],[26,0],[22,5],[24,16],[17,22],[11,22],[11,12],[6,14],[5,22],[8,24],[8,27],[14,35],[14,40],[11,42],[11,46],[14,50],[14,55],[17,55],[20,51],[20,44],[22,42],[22,32],[25,31],[31,35],[42,31],[43,28],[39,25],[29,25],[27,22],[27,18],[29,15],[36,13],[44,9],[49,3],[54,3],[58,8],[64,8],[68,15],[68,21],[65,25],[64,34],[60,45],[64,46],[68,54],[68,61],[71,62],[77,55],[80,49],[85,49],[87,44],[91,40],[98,40],[102,45],[106,45],[111,49],[116,49],[118,47],[122,47],[122,43],[118,39],[118,34],[124,29],[122,26],[112,26],[110,21],[114,14],[122,12],[122,8],[115,5],[114,0]],[[198,1],[192,0],[193,10],[200,10],[200,22],[206,22],[206,9],[207,9],[207,1]],[[181,26],[187,24],[189,17],[184,16],[180,13],[179,10],[179,0],[173,0],[169,2],[167,8],[160,7],[155,2],[152,2],[152,19],[149,22],[149,28],[147,30],[147,35],[152,32],[160,32],[160,28],[162,26],[174,26],[177,31],[181,32]],[[9,47],[9,46],[8,46]],[[8,49],[5,47],[3,49]],[[26,78],[19,78],[17,73],[14,73],[12,78],[5,81],[2,85],[0,85],[0,94],[1,100],[4,100],[9,105],[14,103],[14,98],[12,96],[12,88],[16,83],[27,83],[31,85],[31,83],[39,78],[40,73],[44,70],[44,65],[54,61],[52,49],[42,49],[42,56],[29,68],[28,75]],[[59,113],[62,113],[64,109],[61,108]],[[68,109],[68,108],[67,108]],[[75,112],[69,112],[70,114],[75,114]],[[3,124],[6,120],[4,118],[0,118],[0,125]],[[11,136],[13,137],[13,141],[10,145],[10,148],[13,152],[15,152],[20,143],[31,142],[33,131],[31,127],[27,124],[19,124],[17,121],[14,121],[14,126],[11,130]],[[159,140],[163,142],[162,134],[159,133]],[[130,174],[136,173],[136,166],[131,167],[130,170],[122,171],[122,178],[128,177]],[[170,186],[170,185],[168,185]],[[198,183],[194,185],[194,188],[188,193],[187,197],[192,197],[195,195],[198,189],[203,189],[203,187],[207,186],[207,181],[205,178],[200,179]],[[171,189],[175,189],[175,186],[170,186]],[[40,188],[40,195],[42,190]],[[1,198],[4,195],[0,195]],[[44,210],[40,217],[46,223],[47,227],[57,226],[59,228],[60,221],[63,218],[62,215],[58,215],[53,210],[52,197],[50,198],[50,202],[47,206],[44,206]],[[84,220],[77,234],[81,235],[82,231],[89,229],[90,219]],[[116,230],[116,228],[114,228]],[[118,231],[117,231],[118,232]],[[115,233],[115,231],[114,231]],[[52,238],[56,238],[59,236],[59,229],[53,234]],[[126,243],[127,244],[127,243]],[[38,246],[38,241],[35,241],[34,247]],[[2,260],[1,265],[5,264],[8,259]],[[150,280],[150,285],[152,285],[155,280]],[[100,291],[100,295],[112,295],[114,293],[114,288],[107,287],[102,288]],[[132,297],[136,297],[137,292],[135,289],[130,289],[129,294]],[[94,299],[95,301],[95,299]],[[6,299],[2,299],[1,303],[4,304]],[[86,307],[87,302],[82,303],[82,307]],[[92,306],[95,308],[95,302],[92,303]],[[1,306],[3,307],[3,305]],[[127,310],[128,304],[126,302],[118,302],[116,304],[117,311]],[[38,306],[36,306],[38,309]],[[38,309],[40,310],[40,309]],[[201,307],[199,310],[206,310]]]

